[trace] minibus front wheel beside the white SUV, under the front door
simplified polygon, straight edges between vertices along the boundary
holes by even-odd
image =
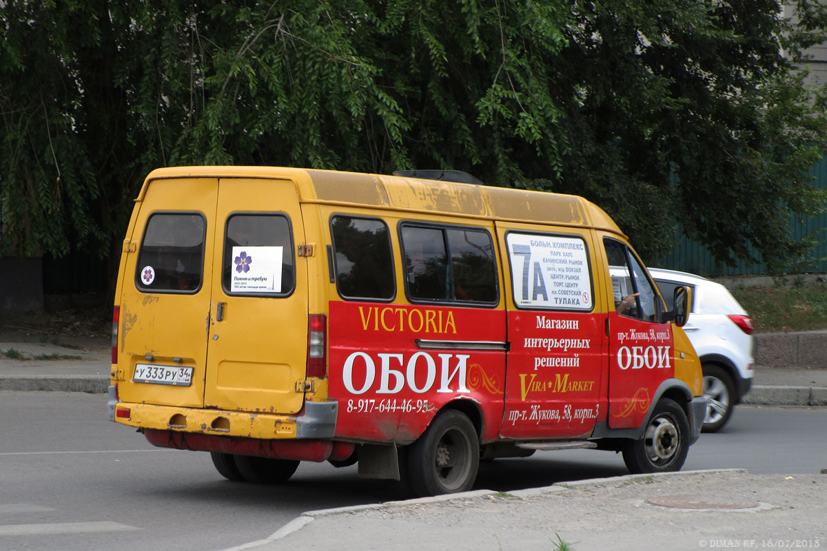
[[[680,471],[689,452],[689,421],[686,412],[669,398],[662,398],[652,412],[643,438],[623,447],[629,472],[667,473]]]

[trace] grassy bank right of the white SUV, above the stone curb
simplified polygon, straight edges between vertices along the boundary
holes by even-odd
[[[827,329],[827,282],[739,287],[732,294],[753,318],[756,333]]]

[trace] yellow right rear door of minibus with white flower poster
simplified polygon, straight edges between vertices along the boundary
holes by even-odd
[[[304,406],[307,260],[291,180],[221,178],[204,401],[230,411]]]

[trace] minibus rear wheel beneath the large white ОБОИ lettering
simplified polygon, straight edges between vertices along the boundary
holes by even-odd
[[[408,450],[410,485],[419,497],[470,490],[480,468],[480,439],[468,417],[437,415]]]

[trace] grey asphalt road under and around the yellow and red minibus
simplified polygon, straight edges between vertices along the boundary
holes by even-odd
[[[741,407],[725,432],[692,447],[685,469],[818,473],[825,425],[825,409]],[[485,463],[476,487],[625,473],[619,455],[546,452]],[[303,511],[395,498],[385,482],[327,463],[302,463],[284,487],[227,482],[208,454],[156,449],[110,423],[103,397],[0,392],[0,549],[231,549]]]

